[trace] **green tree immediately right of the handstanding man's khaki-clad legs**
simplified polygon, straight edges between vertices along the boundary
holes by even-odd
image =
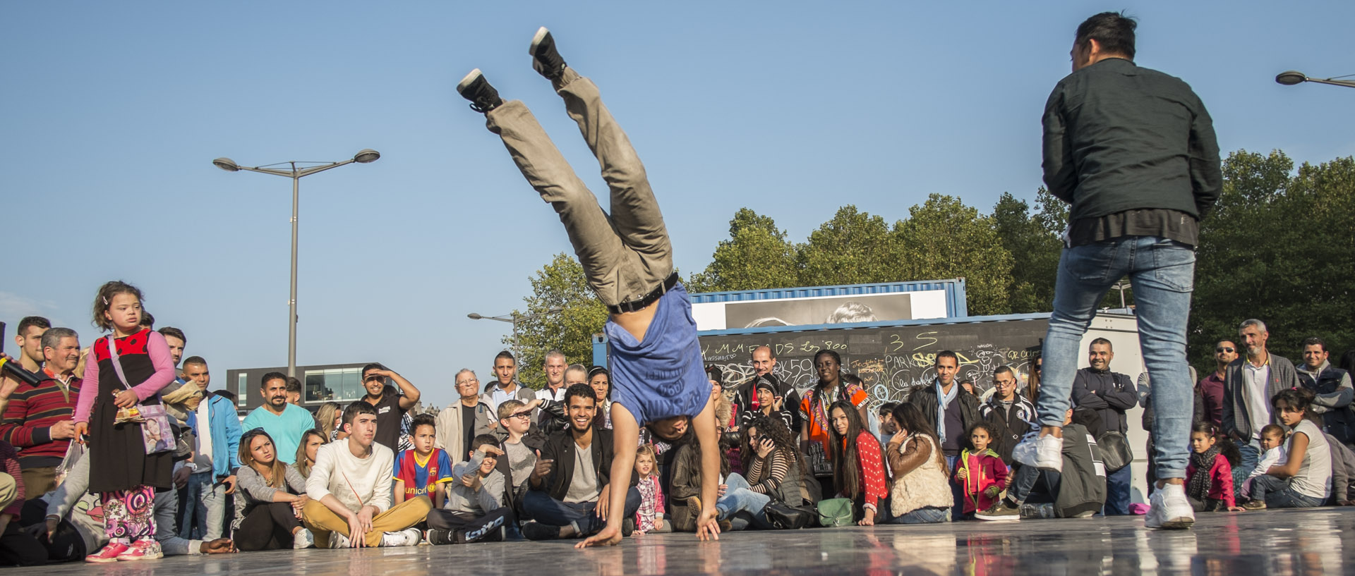
[[[710,265],[692,274],[692,292],[787,288],[797,285],[795,245],[768,216],[738,208],[729,239],[720,241]]]

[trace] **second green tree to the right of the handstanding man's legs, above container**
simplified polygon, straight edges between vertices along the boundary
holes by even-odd
[[[798,247],[799,285],[906,280],[893,258],[896,253],[894,237],[885,219],[847,204]]]

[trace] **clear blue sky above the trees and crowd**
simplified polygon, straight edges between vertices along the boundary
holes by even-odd
[[[1272,80],[1355,73],[1348,1],[12,3],[0,319],[12,335],[42,314],[89,343],[93,291],[123,279],[217,387],[286,364],[290,183],[210,161],[373,147],[301,181],[298,362],[378,360],[444,406],[508,330],[466,314],[522,307],[569,249],[457,80],[484,69],[606,189],[530,68],[538,26],[602,88],[694,272],[745,206],[802,241],[843,204],[893,222],[932,192],[1034,197],[1045,99],[1103,9],[1140,19],[1138,64],[1194,87],[1225,153],[1355,154],[1355,92]]]

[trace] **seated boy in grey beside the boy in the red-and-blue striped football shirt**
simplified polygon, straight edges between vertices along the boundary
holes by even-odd
[[[428,511],[428,544],[499,542],[512,515],[503,504],[504,475],[495,469],[499,438],[480,434],[470,441],[470,460],[457,464],[447,502]]]

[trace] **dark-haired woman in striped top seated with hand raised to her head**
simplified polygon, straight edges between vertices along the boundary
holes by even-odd
[[[799,475],[805,458],[795,449],[790,429],[778,418],[755,416],[744,425],[741,439],[749,489],[782,504],[801,506]]]

